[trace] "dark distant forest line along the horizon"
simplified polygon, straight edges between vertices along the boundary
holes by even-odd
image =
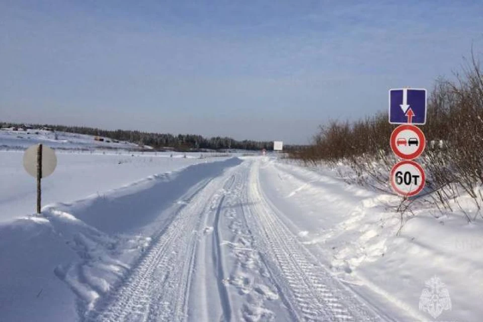
[[[65,125],[49,125],[49,124],[25,124],[0,122],[2,127],[28,127],[32,129],[49,128],[54,131],[88,134],[93,136],[108,137],[119,141],[128,141],[139,145],[149,145],[156,150],[171,148],[179,151],[196,151],[203,149],[227,150],[227,149],[244,149],[244,150],[273,150],[273,141],[254,141],[243,140],[237,141],[230,137],[211,137],[205,138],[201,135],[194,134],[166,134],[152,133],[131,130],[103,130],[87,126],[65,126]],[[299,149],[298,145],[284,145],[286,149]]]

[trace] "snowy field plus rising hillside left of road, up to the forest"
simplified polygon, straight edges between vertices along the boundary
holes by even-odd
[[[101,195],[147,176],[205,163],[223,155],[186,153],[185,157],[185,153],[179,152],[136,151],[139,147],[132,143],[99,142],[83,134],[28,132],[31,134],[0,130],[0,222],[35,212],[35,178],[22,167],[23,152],[33,144],[46,144],[57,155],[54,174],[42,180],[42,204]]]

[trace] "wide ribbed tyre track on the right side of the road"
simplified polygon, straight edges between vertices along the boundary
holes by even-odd
[[[250,175],[247,199],[252,227],[272,263],[278,285],[296,308],[300,320],[379,321],[375,313],[348,294],[290,232],[260,190],[258,163]],[[255,203],[254,203],[255,202]],[[250,220],[247,220],[250,222]]]

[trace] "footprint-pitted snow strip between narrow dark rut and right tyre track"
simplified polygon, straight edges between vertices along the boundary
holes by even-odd
[[[212,221],[220,234],[218,241],[212,238],[210,244],[213,252],[216,252],[215,247],[221,250],[218,253],[223,265],[223,275],[216,276],[217,285],[229,296],[230,319],[233,321],[293,320],[290,311],[285,309],[283,296],[281,301],[285,305],[280,305],[278,288],[274,285],[269,268],[254,248],[254,236],[246,222],[244,207],[248,205],[243,203],[243,194],[246,191],[249,166],[250,162],[240,166],[233,180],[225,185],[218,218],[214,216]],[[216,271],[215,267],[213,263],[213,271]],[[223,277],[222,284],[220,276]],[[225,315],[221,320],[229,319]]]

